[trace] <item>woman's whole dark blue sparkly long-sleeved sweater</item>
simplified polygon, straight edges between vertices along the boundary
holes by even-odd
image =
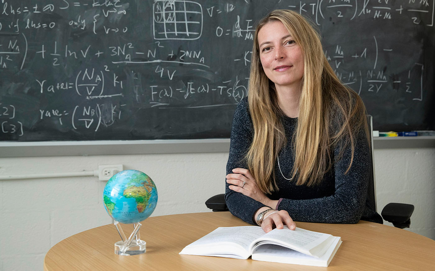
[[[381,216],[365,204],[367,184],[370,180],[366,165],[371,161],[365,133],[362,132],[357,137],[354,160],[347,174],[344,173],[349,166],[351,147],[344,151],[343,157],[334,163],[332,170],[325,174],[319,185],[296,186],[294,180],[285,180],[282,175],[286,178],[291,177],[294,162],[291,138],[297,125],[297,118],[286,116],[280,118],[287,137],[287,144],[278,154],[280,167],[275,162],[275,181],[279,190],[268,195],[272,200],[282,198],[278,210],[286,210],[294,221],[357,223],[363,219],[382,223]],[[248,109],[248,100],[244,98],[234,113],[227,174],[232,173],[231,170],[236,167],[248,168],[244,155],[252,142],[253,134],[254,128]],[[336,147],[332,154],[338,156],[339,152],[340,150]],[[255,225],[254,213],[264,204],[234,192],[228,186],[226,183],[225,201],[230,212]]]

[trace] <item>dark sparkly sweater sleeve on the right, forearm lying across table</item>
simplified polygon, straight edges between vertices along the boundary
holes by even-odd
[[[338,144],[340,145],[340,144]],[[340,147],[335,147],[338,157]],[[370,149],[365,132],[358,133],[355,153],[351,160],[351,146],[348,144],[340,160],[334,163],[335,193],[315,199],[282,199],[278,210],[286,210],[294,221],[323,223],[357,223],[365,209],[370,163]]]

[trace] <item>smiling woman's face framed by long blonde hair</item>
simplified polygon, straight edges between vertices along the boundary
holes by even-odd
[[[266,76],[281,87],[301,87],[304,56],[301,47],[280,21],[265,24],[258,31],[260,61]]]

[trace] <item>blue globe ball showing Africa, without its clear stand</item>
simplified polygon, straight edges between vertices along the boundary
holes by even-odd
[[[123,170],[107,181],[103,202],[114,220],[124,224],[141,222],[157,206],[157,188],[147,174]]]

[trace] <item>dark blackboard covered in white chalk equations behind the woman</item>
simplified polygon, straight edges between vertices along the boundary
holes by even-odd
[[[0,1],[0,140],[229,137],[277,8],[318,26],[375,130],[435,129],[434,0]]]

